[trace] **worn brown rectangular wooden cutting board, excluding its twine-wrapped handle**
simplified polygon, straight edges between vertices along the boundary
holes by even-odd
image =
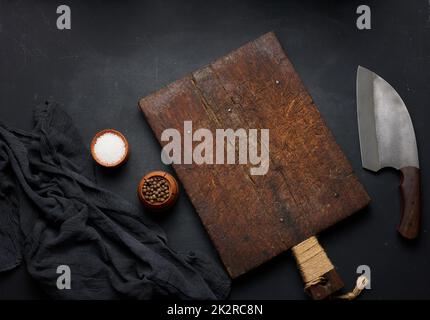
[[[167,87],[139,106],[161,133],[270,130],[270,167],[173,165],[231,277],[235,278],[369,202],[274,33]]]

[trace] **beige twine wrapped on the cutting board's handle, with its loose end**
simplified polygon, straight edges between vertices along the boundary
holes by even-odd
[[[292,251],[305,282],[306,292],[310,287],[324,283],[326,281],[324,275],[334,269],[333,264],[316,237],[310,237],[299,243],[292,248]],[[365,276],[360,276],[351,292],[334,298],[353,300],[361,293],[367,283],[368,279]]]

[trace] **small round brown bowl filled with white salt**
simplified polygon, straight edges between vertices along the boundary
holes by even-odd
[[[114,129],[97,132],[91,141],[91,155],[101,166],[118,167],[128,158],[129,148],[124,135]]]

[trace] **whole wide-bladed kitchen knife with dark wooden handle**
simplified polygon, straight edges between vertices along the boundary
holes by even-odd
[[[420,169],[414,127],[393,87],[374,72],[357,70],[357,116],[363,167],[400,170],[400,234],[417,237],[420,229]]]

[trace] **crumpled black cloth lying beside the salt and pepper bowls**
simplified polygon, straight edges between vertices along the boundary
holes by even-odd
[[[31,206],[20,207],[20,195]],[[160,228],[98,187],[88,150],[56,104],[35,110],[31,132],[0,124],[0,271],[24,259],[56,299],[222,299],[230,280],[194,253],[166,244]],[[71,271],[57,287],[58,266]]]

